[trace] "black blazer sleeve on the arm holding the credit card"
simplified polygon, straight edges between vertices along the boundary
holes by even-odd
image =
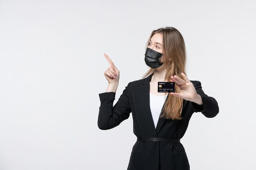
[[[210,97],[202,90],[201,82],[197,81],[195,90],[202,97],[202,105],[192,102],[193,112],[201,112],[205,117],[215,117],[219,113],[219,106],[216,99]]]

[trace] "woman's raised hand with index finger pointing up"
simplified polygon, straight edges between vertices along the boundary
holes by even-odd
[[[110,64],[108,69],[104,72],[104,75],[105,75],[106,79],[108,80],[108,84],[112,84],[112,83],[113,84],[118,84],[118,82],[119,82],[119,70],[114,65],[114,63],[112,62],[110,57],[108,57],[107,54],[104,54],[104,56],[106,57],[106,59],[108,60],[108,63]]]

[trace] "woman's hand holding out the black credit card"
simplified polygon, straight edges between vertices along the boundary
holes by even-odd
[[[184,73],[181,73],[181,75],[184,77],[185,81],[180,77],[178,77],[177,75],[171,76],[172,78],[171,82],[175,82],[175,84],[177,84],[177,86],[180,88],[180,93],[170,93],[170,94],[176,97],[181,97],[191,102],[196,102],[201,104],[202,99],[200,95],[197,94],[193,83],[189,81],[189,79],[186,77]]]

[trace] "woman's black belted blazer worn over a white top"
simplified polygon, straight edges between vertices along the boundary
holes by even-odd
[[[216,99],[204,94],[199,81],[191,81],[202,97],[202,105],[183,100],[182,120],[160,118],[155,128],[150,112],[149,92],[153,74],[144,79],[128,83],[117,103],[114,92],[100,93],[98,127],[108,130],[128,119],[132,113],[133,132],[137,137],[159,137],[181,139],[194,112],[205,117],[219,113]],[[169,96],[169,93],[168,93]],[[168,97],[167,96],[167,97]],[[166,98],[167,99],[167,98]],[[163,107],[162,107],[163,110]],[[181,143],[136,141],[130,155],[127,170],[189,170],[189,161]]]

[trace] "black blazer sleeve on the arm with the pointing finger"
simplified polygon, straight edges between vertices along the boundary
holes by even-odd
[[[113,107],[115,92],[105,92],[99,94],[101,105],[99,107],[98,127],[101,130],[108,130],[118,126],[122,121],[128,119],[131,113],[129,85],[125,87],[117,103]]]

